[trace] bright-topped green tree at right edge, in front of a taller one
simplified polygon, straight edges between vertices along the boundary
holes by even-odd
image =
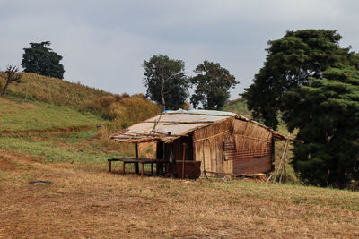
[[[359,180],[359,72],[330,68],[288,90],[283,115],[297,128],[293,167],[306,184],[344,188]]]

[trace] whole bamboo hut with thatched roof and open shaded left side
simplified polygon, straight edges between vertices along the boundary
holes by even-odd
[[[238,176],[271,172],[274,141],[285,136],[231,112],[180,109],[134,124],[110,139],[136,143],[136,149],[138,143],[156,143],[156,159],[178,164],[170,167],[175,174],[180,165],[187,171],[185,164],[197,162],[202,174]]]

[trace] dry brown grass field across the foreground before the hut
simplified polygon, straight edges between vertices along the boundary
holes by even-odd
[[[43,164],[11,151],[0,155],[4,238],[359,236],[357,192],[140,178],[100,166]]]

